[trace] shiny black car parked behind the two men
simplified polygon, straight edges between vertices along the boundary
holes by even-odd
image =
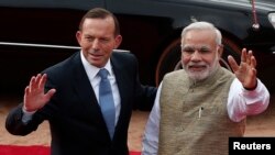
[[[258,77],[274,91],[274,0],[1,0],[0,89],[20,90],[31,76],[79,51],[75,33],[95,7],[113,12],[121,24],[121,49],[136,55],[141,80],[158,85],[180,67],[179,36],[195,21],[209,21],[223,34],[223,60],[253,49]]]

